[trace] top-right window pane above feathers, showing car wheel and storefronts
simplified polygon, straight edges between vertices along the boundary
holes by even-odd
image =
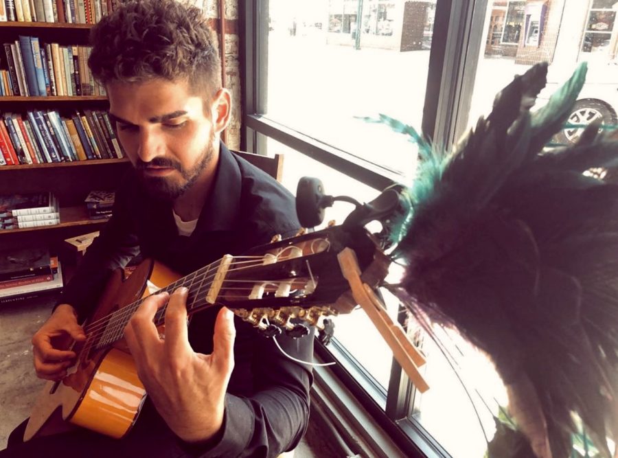
[[[573,144],[583,127],[596,118],[602,119],[605,129],[614,128],[618,120],[617,12],[615,0],[490,0],[468,126],[490,113],[496,93],[531,65],[549,62],[547,89],[537,101],[542,106],[575,67],[586,61],[584,89],[566,128],[553,141]],[[511,32],[507,32],[509,25]],[[504,39],[515,37],[512,30],[517,28],[521,32],[516,39]]]

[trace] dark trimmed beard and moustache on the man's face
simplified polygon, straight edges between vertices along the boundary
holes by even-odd
[[[152,159],[150,162],[137,159],[135,168],[148,194],[164,201],[174,201],[190,189],[212,160],[214,153],[214,132],[211,131],[209,137],[209,141],[207,141],[195,164],[190,169],[184,168],[178,161],[166,157],[155,157],[155,159]],[[169,176],[148,176],[144,171],[150,165],[178,170],[182,179],[179,181]]]

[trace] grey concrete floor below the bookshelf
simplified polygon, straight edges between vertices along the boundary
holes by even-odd
[[[0,450],[8,435],[29,415],[32,404],[45,383],[36,378],[32,367],[32,335],[45,322],[53,300],[0,304]],[[314,453],[306,439],[299,444],[295,458],[324,457]]]

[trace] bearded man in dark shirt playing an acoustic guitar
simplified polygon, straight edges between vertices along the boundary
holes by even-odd
[[[133,164],[113,216],[58,306],[32,339],[41,378],[65,380],[112,271],[138,253],[187,275],[299,227],[293,196],[220,141],[230,93],[201,11],[174,0],[122,4],[93,27],[89,67],[108,94],[117,137]],[[148,392],[121,439],[84,428],[35,435],[25,424],[0,457],[271,457],[294,448],[307,426],[311,369],[279,352],[227,308],[187,328],[187,289],[146,299],[124,339]],[[159,308],[165,331],[155,327]],[[312,336],[278,341],[300,360]],[[65,380],[66,381],[66,380]]]

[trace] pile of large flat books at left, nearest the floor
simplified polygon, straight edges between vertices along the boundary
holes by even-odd
[[[0,304],[47,295],[62,288],[58,257],[45,249],[0,253]]]

